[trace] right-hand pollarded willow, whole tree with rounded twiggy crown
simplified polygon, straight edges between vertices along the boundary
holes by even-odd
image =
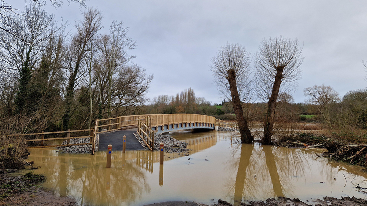
[[[255,56],[255,79],[259,98],[268,101],[262,144],[271,144],[275,108],[280,92],[290,93],[301,77],[302,46],[283,36],[263,40]]]

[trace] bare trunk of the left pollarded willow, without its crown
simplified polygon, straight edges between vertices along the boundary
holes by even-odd
[[[247,121],[243,116],[242,104],[237,91],[236,74],[233,69],[228,70],[228,82],[232,96],[233,110],[235,111],[238,128],[241,134],[241,143],[252,143],[254,137],[251,135]]]

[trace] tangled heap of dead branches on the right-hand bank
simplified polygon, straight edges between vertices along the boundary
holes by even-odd
[[[367,167],[366,144],[341,144],[332,141],[327,144],[326,148],[327,152],[324,152],[323,155],[330,156],[330,159]]]

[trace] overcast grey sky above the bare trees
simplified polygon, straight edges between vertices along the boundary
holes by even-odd
[[[315,84],[330,85],[341,96],[367,86],[361,64],[367,60],[367,1],[90,0],[87,6],[103,12],[103,32],[114,19],[130,27],[128,36],[138,45],[130,55],[154,74],[148,98],[192,87],[196,96],[220,103],[209,70],[218,47],[238,42],[255,54],[262,39],[279,35],[304,44],[295,102]],[[78,4],[45,8],[68,20],[67,30],[84,10]]]

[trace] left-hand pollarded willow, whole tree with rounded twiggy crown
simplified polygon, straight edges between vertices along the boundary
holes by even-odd
[[[242,107],[242,103],[251,99],[250,63],[250,52],[237,43],[226,44],[219,48],[217,56],[214,56],[210,65],[218,91],[225,98],[232,99],[241,143],[252,143],[254,140]]]

